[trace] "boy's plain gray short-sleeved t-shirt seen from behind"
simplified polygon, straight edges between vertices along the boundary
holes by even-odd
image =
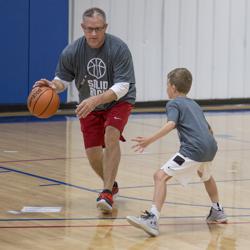
[[[179,152],[194,161],[212,161],[217,143],[201,107],[192,99],[177,97],[166,105],[168,121],[176,124],[180,139]]]

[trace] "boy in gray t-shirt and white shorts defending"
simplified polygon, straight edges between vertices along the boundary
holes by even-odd
[[[209,166],[216,154],[217,143],[200,106],[186,96],[191,84],[192,75],[187,69],[171,71],[167,83],[167,93],[171,99],[166,106],[167,123],[152,136],[133,139],[137,142],[133,146],[135,151],[142,152],[149,144],[176,128],[181,143],[179,152],[154,174],[154,196],[150,212],[145,211],[140,217],[127,216],[131,225],[143,229],[150,236],[159,235],[158,220],[166,199],[167,181],[174,177],[185,186],[195,172],[204,182],[212,202],[207,223],[227,223]]]

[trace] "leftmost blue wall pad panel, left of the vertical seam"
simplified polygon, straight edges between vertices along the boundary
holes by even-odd
[[[26,101],[28,26],[29,0],[0,0],[0,104]]]

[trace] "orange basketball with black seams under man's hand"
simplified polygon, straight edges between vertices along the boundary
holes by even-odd
[[[54,115],[60,105],[60,98],[50,87],[34,87],[27,100],[30,113],[38,118],[49,118]]]

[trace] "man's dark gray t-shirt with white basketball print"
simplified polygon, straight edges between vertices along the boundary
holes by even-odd
[[[104,44],[90,48],[85,37],[68,45],[62,52],[56,76],[71,82],[75,80],[79,100],[101,94],[115,83],[130,83],[128,93],[119,102],[135,103],[135,75],[128,46],[119,38],[105,34]],[[98,106],[95,110],[112,107],[116,101]]]

